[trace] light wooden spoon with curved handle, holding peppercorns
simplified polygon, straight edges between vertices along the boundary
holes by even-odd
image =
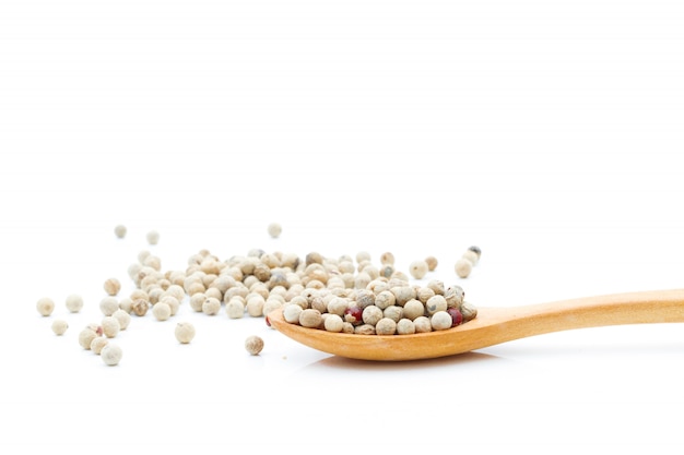
[[[477,308],[477,316],[470,322],[415,335],[354,335],[306,328],[286,322],[282,310],[269,313],[268,322],[290,338],[341,357],[381,361],[431,359],[573,328],[684,322],[684,289]]]

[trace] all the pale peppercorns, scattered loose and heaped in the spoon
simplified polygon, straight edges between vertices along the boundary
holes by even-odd
[[[268,231],[271,237],[278,237],[282,229],[272,224]],[[117,226],[115,235],[123,238],[126,228]],[[158,237],[158,232],[151,231],[148,242],[154,246]],[[459,261],[468,261],[472,267],[480,253],[479,248],[471,247]],[[437,259],[427,256],[411,262],[409,273],[422,279],[436,267]],[[355,258],[326,258],[318,252],[300,258],[295,253],[252,249],[245,255],[223,260],[200,250],[188,258],[184,270],[163,271],[162,260],[143,250],[127,272],[134,284],[133,291],[121,297],[119,279],[104,280],[106,296],[99,301],[103,319],[79,334],[81,347],[101,355],[109,366],[118,364],[122,355],[120,347],[109,340],[129,326],[131,318],[152,314],[157,321],[167,321],[184,302],[194,312],[209,316],[224,312],[229,319],[261,318],[282,309],[285,321],[293,324],[366,335],[440,331],[471,321],[477,314],[458,285],[445,288],[440,280],[411,284],[409,275],[396,270],[391,252],[380,255],[378,267],[372,263],[370,254],[363,251]],[[458,270],[457,274],[464,277]],[[70,312],[79,312],[83,299],[72,294],[67,297],[66,306]],[[42,315],[49,316],[55,301],[43,297],[36,307]],[[56,335],[63,335],[68,327],[63,320],[52,324]],[[190,343],[194,333],[189,322],[177,323],[178,343]],[[246,343],[251,355],[263,347],[257,338]]]

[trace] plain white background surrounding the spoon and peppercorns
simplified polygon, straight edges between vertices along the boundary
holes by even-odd
[[[682,23],[677,1],[3,0],[2,451],[681,453],[677,324],[405,363],[187,302],[133,319],[116,368],[76,336],[144,249],[434,254],[483,307],[681,287]]]

